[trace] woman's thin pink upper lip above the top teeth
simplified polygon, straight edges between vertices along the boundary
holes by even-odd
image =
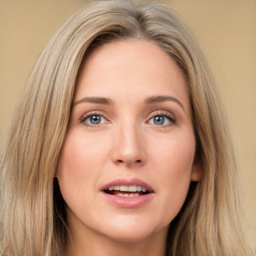
[[[100,190],[106,190],[110,186],[119,186],[119,185],[125,185],[125,186],[138,185],[138,186],[145,187],[148,192],[154,191],[153,188],[149,184],[147,184],[146,182],[144,182],[143,180],[141,180],[139,178],[130,178],[130,179],[117,178],[117,179],[114,179],[114,180],[110,181],[109,183],[103,185]]]

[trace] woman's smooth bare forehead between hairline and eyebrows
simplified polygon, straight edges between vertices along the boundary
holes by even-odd
[[[126,99],[130,94],[141,99],[169,94],[189,104],[178,65],[150,41],[109,42],[84,58],[76,81],[74,101],[81,96]]]

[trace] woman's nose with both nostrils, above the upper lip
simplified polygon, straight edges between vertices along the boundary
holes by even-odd
[[[114,136],[112,161],[127,167],[143,165],[146,161],[145,141],[139,127],[120,125]]]

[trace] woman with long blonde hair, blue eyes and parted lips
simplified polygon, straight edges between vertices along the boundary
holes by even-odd
[[[79,10],[21,98],[1,163],[2,255],[252,255],[220,96],[170,8]]]

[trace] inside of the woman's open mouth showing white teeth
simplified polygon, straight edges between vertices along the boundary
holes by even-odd
[[[139,185],[109,186],[107,189],[104,189],[103,191],[107,194],[123,196],[123,197],[140,196],[140,195],[145,195],[149,193],[149,191],[147,191],[145,187],[139,186]]]

